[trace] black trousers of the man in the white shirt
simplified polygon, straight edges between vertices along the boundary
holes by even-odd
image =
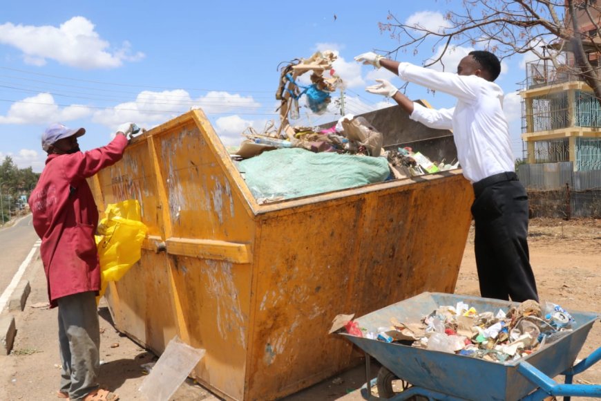
[[[528,254],[528,194],[514,173],[474,184],[475,255],[482,297],[538,301]]]

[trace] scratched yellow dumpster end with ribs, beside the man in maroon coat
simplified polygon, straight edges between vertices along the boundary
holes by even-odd
[[[174,335],[207,354],[193,375],[242,399],[254,216],[248,189],[201,111],[135,138],[93,182],[97,203],[135,198],[142,259],[111,285],[117,328],[156,353]]]

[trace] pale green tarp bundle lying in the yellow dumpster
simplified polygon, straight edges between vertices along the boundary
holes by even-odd
[[[298,198],[385,181],[388,161],[381,157],[276,149],[242,160],[240,172],[256,199]]]

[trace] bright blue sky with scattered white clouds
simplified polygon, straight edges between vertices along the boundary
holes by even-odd
[[[383,97],[365,93],[365,86],[376,77],[399,86],[401,81],[353,57],[397,45],[378,28],[389,10],[403,21],[439,26],[441,12],[454,6],[461,2],[12,3],[0,17],[0,158],[11,156],[19,167],[39,172],[46,159],[41,133],[51,122],[85,127],[79,144],[86,150],[106,144],[123,122],[151,129],[199,106],[226,145],[239,144],[246,127],[260,131],[267,121],[278,121],[278,64],[308,58],[316,50],[338,52],[334,68],[347,85],[347,113],[390,106]],[[433,54],[429,46],[397,59],[421,65]],[[446,65],[455,71],[466,51],[458,49]],[[506,92],[516,158],[522,156],[522,142],[515,91],[525,78],[523,62],[521,56],[506,60],[497,80]],[[416,85],[406,93],[435,107],[454,103]],[[303,110],[309,124],[339,117],[334,105],[325,115]]]

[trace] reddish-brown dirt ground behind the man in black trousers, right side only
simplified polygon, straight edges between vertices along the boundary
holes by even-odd
[[[457,294],[479,295],[473,241],[472,227]],[[601,220],[531,219],[528,247],[542,303],[551,301],[568,311],[601,315]],[[582,359],[600,346],[601,322],[597,321],[578,357]],[[601,363],[575,376],[575,382],[601,384]]]

